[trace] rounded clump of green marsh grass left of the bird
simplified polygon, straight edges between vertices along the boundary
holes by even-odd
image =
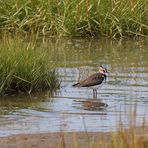
[[[51,68],[43,49],[21,40],[0,42],[0,95],[55,90],[59,81]]]

